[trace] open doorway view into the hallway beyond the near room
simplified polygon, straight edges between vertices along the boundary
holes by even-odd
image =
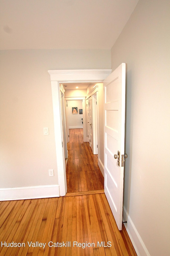
[[[98,166],[97,155],[98,86],[97,83],[62,83],[67,119],[63,124],[67,124],[68,131],[67,193],[104,189],[104,177]],[[103,90],[103,83],[100,86]],[[80,100],[81,97],[84,100]]]

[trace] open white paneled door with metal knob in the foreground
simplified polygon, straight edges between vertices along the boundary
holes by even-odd
[[[104,192],[122,229],[126,64],[104,80]],[[117,155],[117,159],[116,158]]]

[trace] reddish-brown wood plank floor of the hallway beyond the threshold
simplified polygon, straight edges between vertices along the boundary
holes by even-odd
[[[67,193],[104,189],[104,177],[88,142],[83,142],[83,129],[70,129],[67,143]]]

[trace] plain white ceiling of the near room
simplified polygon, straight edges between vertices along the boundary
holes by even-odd
[[[0,49],[111,49],[138,0],[0,0]]]

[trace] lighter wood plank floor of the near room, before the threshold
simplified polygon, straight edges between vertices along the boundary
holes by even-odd
[[[2,256],[137,256],[103,193],[3,201],[0,216]]]

